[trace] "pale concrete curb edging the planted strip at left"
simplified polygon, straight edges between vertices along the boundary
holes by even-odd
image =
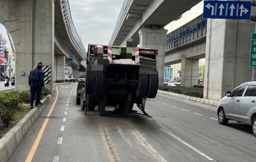
[[[63,83],[54,83],[53,86]],[[23,137],[28,130],[32,127],[34,122],[38,119],[41,112],[48,105],[51,100],[51,95],[47,95],[41,100],[43,103],[39,107],[31,109],[15,126],[13,126],[1,139],[0,139],[0,161],[7,161],[11,154],[15,151]]]

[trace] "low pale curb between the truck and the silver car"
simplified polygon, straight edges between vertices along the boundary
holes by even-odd
[[[164,90],[157,90],[157,92],[167,94],[167,95],[172,95],[172,96],[179,97],[179,98],[193,100],[193,101],[196,101],[196,102],[200,102],[200,103],[204,103],[204,104],[208,104],[208,105],[212,105],[212,106],[217,106],[218,105],[218,101],[216,101],[216,100],[210,100],[210,99],[205,99],[205,98],[197,98],[197,97],[193,97],[193,96],[189,96],[189,95],[178,94],[178,93],[173,93],[173,92],[164,91]]]

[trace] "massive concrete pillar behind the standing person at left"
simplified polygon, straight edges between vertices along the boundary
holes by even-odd
[[[28,90],[29,72],[39,61],[53,69],[54,1],[0,0],[0,15],[16,49],[15,90]],[[52,79],[45,87],[52,94]]]

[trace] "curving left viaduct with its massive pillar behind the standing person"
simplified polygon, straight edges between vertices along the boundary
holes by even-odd
[[[41,61],[47,68],[45,87],[53,94],[53,82],[64,79],[65,64],[75,68],[85,59],[68,0],[1,0],[0,15],[16,50],[17,91],[29,89],[29,71]],[[69,55],[76,60],[67,61]]]

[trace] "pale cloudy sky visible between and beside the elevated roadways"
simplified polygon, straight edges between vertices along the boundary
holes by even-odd
[[[122,3],[123,0],[69,0],[73,24],[85,50],[88,43],[108,44]],[[182,18],[170,22],[164,28],[171,32],[201,14],[202,8],[203,1],[182,14]],[[0,33],[7,40],[7,47],[10,48],[5,28],[1,24]]]

